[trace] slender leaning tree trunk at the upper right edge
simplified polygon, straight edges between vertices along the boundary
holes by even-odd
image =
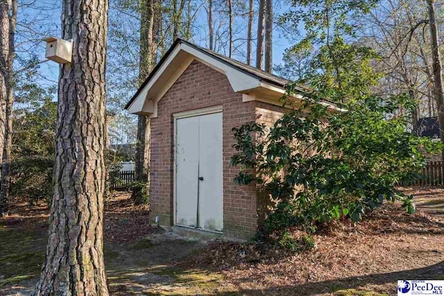
[[[441,64],[441,53],[439,52],[438,26],[435,19],[435,8],[433,0],[427,0],[429,11],[430,43],[432,44],[432,69],[434,77],[434,97],[438,109],[438,125],[441,133],[441,143],[444,143],[444,89]],[[444,150],[442,153],[444,161]]]

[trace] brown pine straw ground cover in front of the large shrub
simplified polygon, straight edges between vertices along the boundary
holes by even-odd
[[[444,279],[444,221],[422,210],[385,204],[313,238],[302,253],[215,242],[185,265],[220,271],[245,295],[395,295],[398,279]]]

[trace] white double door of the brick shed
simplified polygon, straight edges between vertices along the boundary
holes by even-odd
[[[223,230],[222,113],[177,119],[176,224]]]

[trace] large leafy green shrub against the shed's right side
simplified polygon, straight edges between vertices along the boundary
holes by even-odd
[[[412,213],[411,197],[395,184],[418,177],[422,151],[438,151],[441,143],[409,133],[407,113],[393,115],[409,104],[369,96],[343,105],[346,112],[332,112],[307,99],[269,131],[257,123],[233,128],[238,153],[231,164],[247,168],[234,182],[255,182],[276,204],[265,232],[283,234],[295,225],[312,232],[342,218],[357,222],[384,200],[400,200]]]

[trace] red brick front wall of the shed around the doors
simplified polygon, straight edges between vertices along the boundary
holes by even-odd
[[[151,119],[150,207],[151,217],[162,225],[173,224],[173,114],[223,105],[223,232],[234,238],[250,238],[257,227],[255,186],[237,186],[239,171],[230,167],[235,151],[231,129],[255,121],[255,101],[242,102],[222,73],[194,61],[157,105]]]

